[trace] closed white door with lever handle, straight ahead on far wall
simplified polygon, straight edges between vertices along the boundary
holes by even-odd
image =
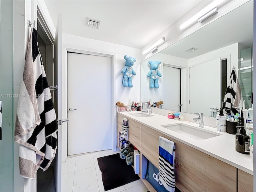
[[[111,57],[68,53],[68,155],[111,149]]]

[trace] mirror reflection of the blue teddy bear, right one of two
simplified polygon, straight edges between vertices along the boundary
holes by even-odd
[[[159,88],[158,85],[158,76],[162,77],[162,74],[160,74],[160,72],[157,70],[158,65],[161,64],[160,61],[149,61],[148,64],[150,64],[150,72],[148,73],[148,76],[150,76],[150,80],[149,80],[149,87],[150,88]]]

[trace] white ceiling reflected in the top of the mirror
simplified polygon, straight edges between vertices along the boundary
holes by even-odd
[[[238,42],[243,48],[252,47],[253,42],[253,1],[236,8],[200,30],[162,50],[168,54],[181,58],[196,56],[217,50]],[[193,52],[185,52],[188,48],[198,48]]]

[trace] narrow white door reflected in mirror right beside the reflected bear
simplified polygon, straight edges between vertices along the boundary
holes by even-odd
[[[163,65],[162,81],[164,108],[180,111],[180,69]]]

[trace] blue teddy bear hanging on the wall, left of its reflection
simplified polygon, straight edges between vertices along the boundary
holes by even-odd
[[[134,62],[136,62],[136,58],[124,56],[125,66],[122,69],[121,73],[124,74],[123,77],[123,86],[124,87],[133,87],[132,86],[132,75],[136,75],[136,72],[132,69]]]

